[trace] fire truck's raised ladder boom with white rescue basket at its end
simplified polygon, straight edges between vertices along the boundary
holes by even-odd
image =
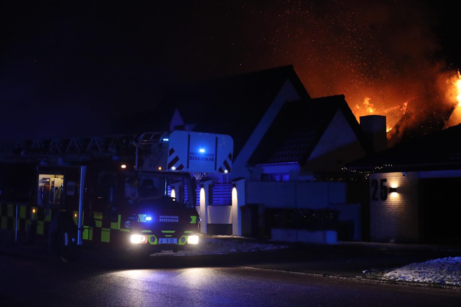
[[[233,145],[229,135],[190,131],[0,141],[0,161],[115,158],[133,161],[140,171],[223,174],[231,172]]]

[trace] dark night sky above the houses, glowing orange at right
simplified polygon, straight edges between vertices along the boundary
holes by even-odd
[[[312,97],[343,93],[356,115],[368,97],[395,123],[408,99],[421,114],[447,103],[458,15],[443,1],[3,1],[0,138],[136,130],[183,84],[286,64]]]

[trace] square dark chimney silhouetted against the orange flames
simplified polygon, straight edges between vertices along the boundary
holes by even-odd
[[[360,116],[360,126],[368,140],[372,143],[375,151],[383,151],[387,148],[386,116]]]

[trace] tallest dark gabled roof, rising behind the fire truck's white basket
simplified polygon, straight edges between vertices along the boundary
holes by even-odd
[[[194,131],[231,135],[237,156],[287,80],[301,98],[310,98],[288,65],[188,87],[166,96],[157,113],[170,120],[177,108],[184,124],[195,124]]]

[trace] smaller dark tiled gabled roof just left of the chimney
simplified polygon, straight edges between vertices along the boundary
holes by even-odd
[[[248,163],[304,164],[338,110],[343,112],[364,150],[371,153],[372,147],[344,95],[336,95],[284,104]]]

